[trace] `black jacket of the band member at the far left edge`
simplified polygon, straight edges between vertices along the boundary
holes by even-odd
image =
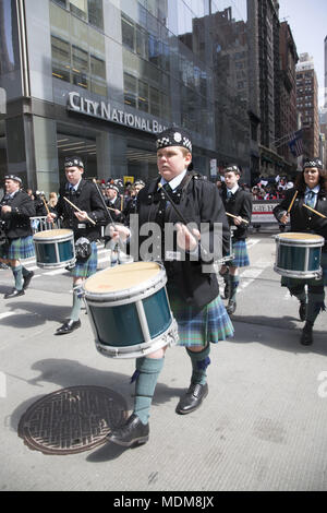
[[[28,237],[32,235],[29,217],[35,216],[34,201],[25,191],[17,191],[13,198],[4,200],[2,198],[1,205],[10,205],[11,212],[5,214],[1,208],[1,220],[4,222],[4,231],[9,239],[17,239],[20,237]]]

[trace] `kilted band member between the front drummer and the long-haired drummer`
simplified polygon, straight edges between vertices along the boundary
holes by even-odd
[[[225,168],[225,186],[221,188],[221,199],[232,230],[233,259],[222,265],[220,275],[225,281],[225,298],[228,299],[227,311],[231,315],[237,309],[237,291],[240,285],[239,267],[250,265],[246,248],[247,228],[252,216],[252,194],[239,187],[241,170],[231,165]],[[247,223],[246,223],[247,222]]]

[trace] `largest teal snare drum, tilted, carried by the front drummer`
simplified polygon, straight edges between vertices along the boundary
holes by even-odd
[[[85,301],[98,351],[140,358],[178,341],[165,269],[156,262],[107,267],[84,283]]]

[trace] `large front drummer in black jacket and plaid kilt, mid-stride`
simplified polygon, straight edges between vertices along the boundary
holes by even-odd
[[[222,232],[223,251],[228,251],[228,222],[218,189],[197,172],[187,170],[191,160],[192,143],[184,130],[173,127],[161,132],[157,136],[157,166],[160,177],[146,184],[137,195],[138,258],[161,261],[165,265],[170,307],[178,322],[178,344],[186,349],[185,355],[192,366],[189,390],[175,408],[179,415],[197,409],[208,394],[206,371],[210,363],[211,343],[216,344],[233,335],[232,323],[219,296],[217,275],[213,265],[206,265],[209,261],[206,248],[209,248],[211,255],[215,254],[215,249],[211,248],[215,224],[221,230],[220,236]],[[189,229],[180,223],[180,217],[159,184],[167,190],[186,224],[193,223],[198,229],[193,228],[191,231],[191,226]],[[156,234],[158,237],[154,237],[153,252],[145,255],[142,254],[142,248],[146,241],[144,232],[148,223],[158,228],[161,237]],[[206,232],[201,224],[207,227]],[[137,234],[133,231],[133,220],[130,226],[132,244]],[[165,230],[168,234],[173,229],[177,231],[175,243],[172,248],[167,248]],[[126,227],[124,231],[117,227],[112,235],[123,237],[125,230]],[[221,237],[217,250],[221,258]],[[137,260],[137,255],[134,260]],[[136,371],[132,379],[135,381],[133,414],[123,426],[108,434],[111,442],[131,446],[148,440],[149,410],[164,367],[166,348],[136,359]]]

